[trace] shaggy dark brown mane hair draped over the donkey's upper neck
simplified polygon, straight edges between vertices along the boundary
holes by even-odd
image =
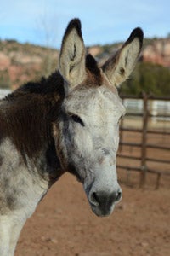
[[[35,155],[44,141],[52,143],[51,126],[64,97],[58,72],[15,90],[3,101],[3,111],[0,108],[0,140],[9,137],[22,154]]]

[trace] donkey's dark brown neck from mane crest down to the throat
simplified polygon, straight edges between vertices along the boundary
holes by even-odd
[[[26,84],[3,100],[0,107],[0,142],[8,138],[23,163],[35,166],[49,183],[62,174],[52,133],[52,123],[58,118],[63,98],[59,79],[59,73],[55,73],[39,84]],[[51,80],[55,80],[56,88]],[[43,90],[47,84],[53,88]]]

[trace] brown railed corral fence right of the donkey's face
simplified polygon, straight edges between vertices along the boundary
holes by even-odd
[[[120,124],[117,168],[139,172],[144,187],[147,173],[170,175],[170,96],[122,96],[127,114]]]

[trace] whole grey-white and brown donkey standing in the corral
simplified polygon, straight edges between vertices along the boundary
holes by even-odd
[[[80,20],[71,20],[59,70],[0,101],[1,256],[14,255],[26,219],[64,172],[82,183],[97,216],[110,215],[121,200],[116,151],[125,108],[116,87],[132,73],[142,42],[134,29],[99,68],[86,54]]]

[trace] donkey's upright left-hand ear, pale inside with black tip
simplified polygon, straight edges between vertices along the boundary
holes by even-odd
[[[78,19],[71,20],[59,55],[59,72],[71,87],[80,84],[86,77],[85,52],[81,22]]]

